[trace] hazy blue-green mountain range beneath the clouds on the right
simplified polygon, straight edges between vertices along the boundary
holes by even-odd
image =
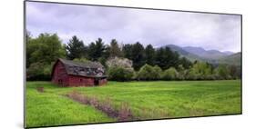
[[[187,57],[190,61],[205,61],[212,64],[241,65],[241,53],[230,51],[220,52],[218,50],[205,50],[201,47],[178,45],[165,45],[172,51],[177,51],[179,55]],[[164,46],[164,47],[165,47]]]

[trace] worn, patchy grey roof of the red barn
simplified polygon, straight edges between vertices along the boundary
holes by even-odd
[[[103,65],[98,62],[75,62],[66,59],[58,59],[66,68],[67,74],[81,75],[87,77],[107,77]]]

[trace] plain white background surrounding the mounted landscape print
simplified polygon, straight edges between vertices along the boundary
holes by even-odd
[[[243,114],[171,119],[118,124],[90,124],[58,128],[255,128],[256,4],[245,0],[54,0],[92,5],[119,5],[243,15]],[[23,1],[2,1],[0,5],[0,128],[23,128]],[[254,123],[253,123],[254,122]]]

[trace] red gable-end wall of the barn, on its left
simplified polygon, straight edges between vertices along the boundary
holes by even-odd
[[[54,73],[52,76],[52,82],[62,86],[68,85],[68,75],[65,66],[61,62],[57,62],[54,67]]]

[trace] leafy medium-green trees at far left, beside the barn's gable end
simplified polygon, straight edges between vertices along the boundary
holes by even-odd
[[[65,47],[56,34],[27,38],[26,79],[49,80],[52,65],[60,57],[65,57]]]

